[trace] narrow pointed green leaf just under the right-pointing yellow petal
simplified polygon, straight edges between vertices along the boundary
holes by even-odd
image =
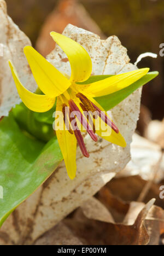
[[[96,97],[95,100],[104,108],[104,110],[109,110],[118,105],[121,101],[125,100],[126,97],[131,95],[134,91],[136,91],[139,87],[143,86],[150,82],[150,80],[154,79],[159,72],[149,72],[144,75],[144,77],[140,78],[137,82],[131,84],[130,86],[116,91],[113,94],[109,94],[102,97]]]

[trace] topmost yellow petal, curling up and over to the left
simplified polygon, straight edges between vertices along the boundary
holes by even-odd
[[[71,64],[71,81],[84,82],[92,72],[92,61],[87,51],[77,42],[58,34],[51,32],[51,37],[66,53]]]

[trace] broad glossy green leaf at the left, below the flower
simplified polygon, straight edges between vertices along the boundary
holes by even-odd
[[[0,122],[0,226],[14,209],[30,196],[62,161],[57,139],[47,144],[19,129],[13,114]]]

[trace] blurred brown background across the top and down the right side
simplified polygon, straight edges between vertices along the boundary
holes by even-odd
[[[115,34],[128,49],[131,62],[150,51],[139,67],[150,67],[160,75],[144,86],[138,131],[144,135],[151,119],[163,119],[164,57],[159,55],[164,43],[163,0],[6,0],[8,13],[37,50],[46,56],[54,48],[49,32],[62,32],[68,23],[83,27],[106,38]]]

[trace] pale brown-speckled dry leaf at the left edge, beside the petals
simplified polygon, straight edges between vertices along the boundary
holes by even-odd
[[[13,77],[10,72],[8,61],[11,60],[18,73],[21,82],[31,91],[35,91],[37,84],[31,75],[30,68],[23,48],[31,45],[28,37],[19,30],[11,18],[7,15],[6,4],[0,0],[0,44],[2,56],[0,56],[0,117],[7,116],[8,112],[15,104],[20,103],[20,97],[14,84]]]

